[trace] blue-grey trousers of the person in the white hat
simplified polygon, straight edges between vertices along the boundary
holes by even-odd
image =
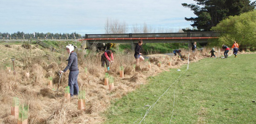
[[[68,86],[70,86],[70,96],[78,95],[79,93],[79,86],[77,82],[79,70],[70,71],[68,75]]]

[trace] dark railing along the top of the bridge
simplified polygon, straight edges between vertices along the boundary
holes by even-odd
[[[220,32],[85,34],[85,38],[218,37]]]

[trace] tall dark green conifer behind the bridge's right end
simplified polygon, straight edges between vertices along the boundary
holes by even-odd
[[[228,16],[239,15],[244,12],[252,11],[256,7],[256,1],[250,3],[250,0],[194,0],[195,4],[182,3],[182,6],[190,8],[197,17],[186,18],[185,20],[193,22],[192,27],[198,30],[210,31],[221,20]],[[193,31],[186,30],[183,31]]]

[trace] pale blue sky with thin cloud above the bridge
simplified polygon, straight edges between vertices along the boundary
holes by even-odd
[[[105,34],[108,20],[146,24],[155,32],[192,28],[185,17],[196,17],[181,3],[193,0],[1,0],[0,32]]]

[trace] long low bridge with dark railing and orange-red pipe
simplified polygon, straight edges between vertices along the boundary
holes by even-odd
[[[90,48],[93,43],[131,43],[131,48],[140,39],[143,43],[189,43],[192,42],[209,42],[208,39],[216,39],[220,32],[186,32],[186,33],[140,33],[140,34],[85,34],[82,48]]]

